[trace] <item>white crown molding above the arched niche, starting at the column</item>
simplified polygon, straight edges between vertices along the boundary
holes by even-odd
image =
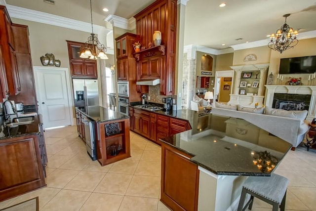
[[[189,60],[196,59],[196,51],[209,53],[213,55],[221,55],[221,54],[226,54],[226,53],[233,53],[234,49],[226,48],[226,49],[217,50],[214,48],[205,47],[202,45],[195,45],[195,44],[189,44],[189,45],[184,46],[183,48],[183,52],[187,53],[187,59]]]

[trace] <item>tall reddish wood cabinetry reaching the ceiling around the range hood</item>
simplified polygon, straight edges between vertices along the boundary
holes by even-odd
[[[165,58],[159,67],[160,94],[173,95],[175,82],[176,54],[176,24],[177,1],[156,0],[134,16],[136,19],[136,34],[140,37],[142,46],[148,48],[153,43],[154,31],[161,32],[161,45],[165,45]],[[140,59],[142,61],[142,59]],[[161,61],[162,62],[162,61]],[[138,66],[140,68],[140,66]],[[140,73],[138,71],[138,73]]]

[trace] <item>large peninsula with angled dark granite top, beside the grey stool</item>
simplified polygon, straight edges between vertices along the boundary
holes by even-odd
[[[192,129],[161,139],[160,200],[171,210],[236,210],[243,181],[270,176],[291,148],[242,119],[191,110],[173,115]]]

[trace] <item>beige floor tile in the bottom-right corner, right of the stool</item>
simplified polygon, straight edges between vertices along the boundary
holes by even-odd
[[[288,189],[310,210],[316,211],[316,188],[289,186]]]

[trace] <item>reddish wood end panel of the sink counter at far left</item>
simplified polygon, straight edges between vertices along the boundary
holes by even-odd
[[[0,140],[0,155],[0,201],[46,186],[38,135]]]

